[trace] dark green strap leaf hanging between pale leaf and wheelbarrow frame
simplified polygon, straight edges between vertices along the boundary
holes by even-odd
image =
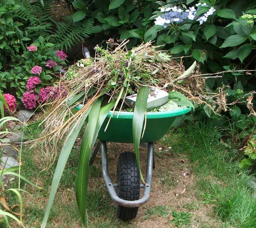
[[[90,122],[84,131],[82,144],[81,144],[81,151],[79,157],[79,165],[77,171],[77,179],[76,179],[76,200],[79,208],[79,212],[81,215],[81,220],[83,224],[85,224],[86,220],[86,205],[87,205],[87,188],[88,188],[88,180],[89,180],[89,162],[90,162],[90,155],[93,149],[93,145],[96,141],[96,138],[99,134],[99,130],[105,121],[109,111],[113,108],[115,102],[112,101],[108,105],[103,106],[98,114],[97,124],[94,131],[94,135],[91,136],[93,138],[92,142],[89,142],[89,126]],[[89,114],[90,115],[90,114]],[[90,121],[89,116],[89,121]],[[90,144],[91,143],[91,144]]]

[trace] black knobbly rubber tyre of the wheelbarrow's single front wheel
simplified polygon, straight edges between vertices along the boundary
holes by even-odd
[[[116,169],[116,194],[121,199],[137,200],[140,198],[140,172],[136,155],[132,152],[123,152],[118,157]],[[126,208],[116,205],[116,216],[128,221],[136,218],[139,207]]]

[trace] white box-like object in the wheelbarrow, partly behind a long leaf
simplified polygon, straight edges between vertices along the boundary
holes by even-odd
[[[164,105],[168,100],[169,94],[166,91],[163,91],[158,88],[150,88],[148,92],[148,101],[147,101],[147,109],[157,108],[161,105]],[[125,102],[131,108],[135,107],[137,99],[137,94],[130,95],[125,97]]]

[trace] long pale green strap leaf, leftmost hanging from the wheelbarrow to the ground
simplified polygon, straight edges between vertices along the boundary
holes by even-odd
[[[70,155],[70,151],[71,151],[71,149],[72,149],[72,147],[73,147],[73,145],[76,141],[76,138],[77,138],[77,136],[78,136],[78,134],[79,134],[79,132],[82,128],[82,125],[84,124],[89,112],[90,112],[90,109],[87,111],[87,114],[85,114],[84,117],[81,118],[80,121],[78,120],[79,124],[76,126],[76,128],[74,128],[75,125],[76,125],[76,122],[74,122],[72,127],[70,128],[70,131],[67,134],[66,140],[65,140],[64,145],[61,149],[61,153],[60,153],[60,156],[58,158],[58,163],[57,163],[57,166],[55,168],[55,172],[54,172],[54,175],[53,175],[53,178],[52,178],[51,190],[50,190],[50,194],[49,194],[47,208],[46,208],[46,211],[44,213],[44,219],[41,223],[41,228],[46,227],[47,220],[48,220],[51,208],[52,208],[52,202],[53,202],[53,199],[55,197],[56,191],[58,189],[58,184],[61,180],[61,176],[63,174],[65,165],[67,163],[67,159]]]

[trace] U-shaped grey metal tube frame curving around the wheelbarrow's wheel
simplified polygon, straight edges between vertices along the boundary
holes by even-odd
[[[108,174],[107,144],[105,141],[100,141],[100,143],[102,151],[102,174],[111,199],[117,204],[127,208],[136,208],[140,205],[143,205],[145,202],[148,202],[153,173],[154,142],[148,143],[147,176],[143,197],[133,201],[121,199],[117,196],[116,191],[114,189],[114,185],[112,184]]]

